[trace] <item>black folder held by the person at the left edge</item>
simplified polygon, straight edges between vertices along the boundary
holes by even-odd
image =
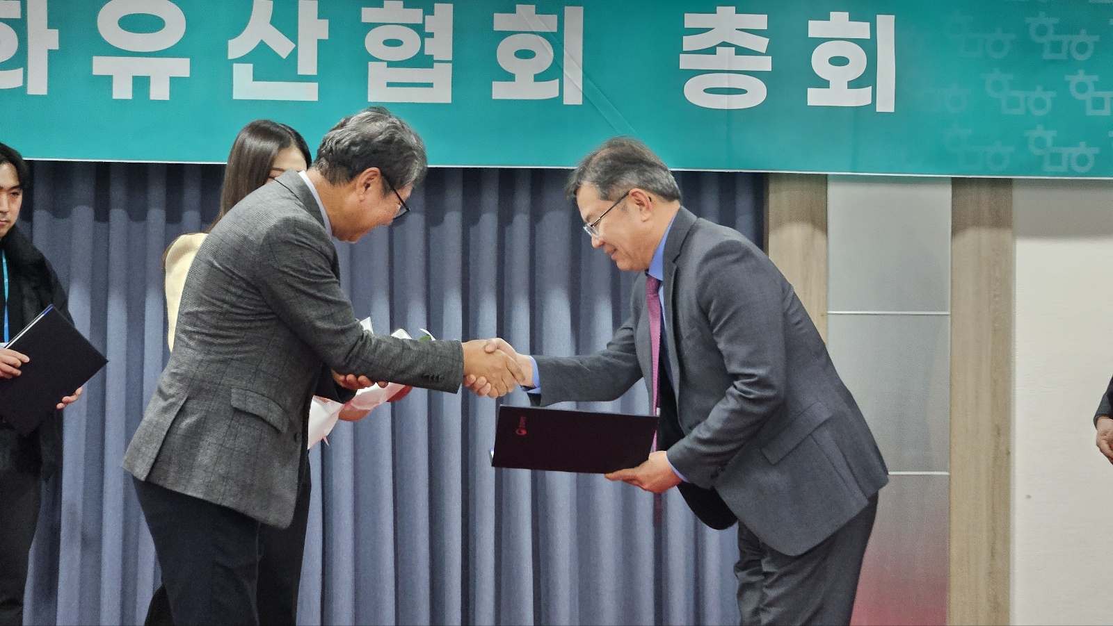
[[[27,436],[66,396],[85,385],[108,359],[55,307],[47,307],[8,347],[30,360],[20,375],[0,379],[0,417]]]

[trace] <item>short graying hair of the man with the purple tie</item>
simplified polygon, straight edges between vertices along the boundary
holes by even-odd
[[[662,200],[680,200],[672,172],[648,146],[632,137],[614,137],[595,148],[572,171],[564,193],[574,198],[584,185],[594,185],[601,198],[613,200],[638,187]]]

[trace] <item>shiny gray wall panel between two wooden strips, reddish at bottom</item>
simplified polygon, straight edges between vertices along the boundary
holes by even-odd
[[[944,624],[951,180],[829,177],[828,346],[889,467],[856,624]]]

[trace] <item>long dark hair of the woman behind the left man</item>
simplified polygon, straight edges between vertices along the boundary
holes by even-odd
[[[297,148],[308,166],[313,161],[309,147],[305,139],[293,128],[270,120],[248,122],[236,136],[236,141],[228,152],[228,165],[224,170],[224,185],[220,187],[220,211],[208,227],[213,230],[236,202],[247,197],[270,178],[270,166],[278,152],[286,148]]]

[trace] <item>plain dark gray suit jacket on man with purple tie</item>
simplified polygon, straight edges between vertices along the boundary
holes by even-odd
[[[664,247],[666,340],[684,437],[669,461],[774,549],[799,555],[887,481],[874,437],[792,287],[738,231],[681,208]],[[652,380],[646,277],[604,350],[536,357],[541,404]]]

